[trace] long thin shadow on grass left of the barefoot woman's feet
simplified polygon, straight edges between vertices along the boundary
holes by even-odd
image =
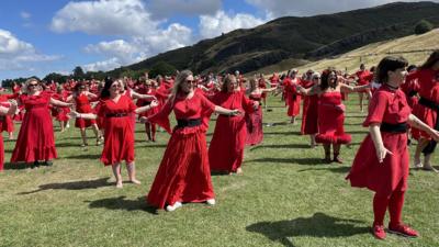
[[[40,191],[45,190],[87,190],[87,189],[98,189],[101,187],[113,186],[114,183],[109,182],[110,178],[101,178],[95,180],[87,180],[87,181],[74,181],[74,182],[56,182],[56,183],[47,183],[40,186],[40,189],[20,192],[18,194],[32,194]]]

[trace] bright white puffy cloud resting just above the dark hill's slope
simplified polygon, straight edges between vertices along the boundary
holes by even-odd
[[[215,15],[200,16],[200,35],[204,38],[218,36],[236,29],[251,29],[263,24],[267,20],[255,18],[251,14],[238,13],[227,15],[224,11],[218,11]]]

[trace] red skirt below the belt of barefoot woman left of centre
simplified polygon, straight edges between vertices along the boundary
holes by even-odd
[[[134,130],[132,115],[104,119],[104,145],[101,161],[105,166],[134,161]]]

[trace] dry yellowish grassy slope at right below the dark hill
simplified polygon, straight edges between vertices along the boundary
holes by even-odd
[[[373,65],[378,65],[378,63],[387,55],[401,55],[404,56],[409,64],[421,65],[432,49],[439,49],[438,41],[439,29],[436,29],[423,35],[409,35],[392,41],[369,44],[334,58],[324,58],[318,61],[305,63],[301,66],[293,66],[294,63],[285,60],[262,68],[257,72],[264,72],[266,75],[272,74],[273,71],[285,72],[293,67],[297,68],[300,71],[305,71],[309,68],[315,71],[322,71],[330,66],[335,66],[337,69],[341,70],[347,69],[348,72],[354,72],[358,70],[361,63],[364,63],[369,68]]]

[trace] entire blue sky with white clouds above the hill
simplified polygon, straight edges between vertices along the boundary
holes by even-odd
[[[387,0],[2,0],[0,80],[111,70],[280,16]],[[439,2],[439,0],[436,0]]]

